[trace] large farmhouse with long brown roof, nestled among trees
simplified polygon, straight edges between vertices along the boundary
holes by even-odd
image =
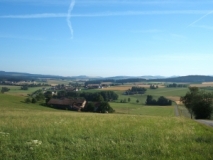
[[[65,110],[75,110],[81,111],[86,105],[86,100],[84,99],[50,99],[47,103],[48,105],[57,108],[57,109],[65,109]]]

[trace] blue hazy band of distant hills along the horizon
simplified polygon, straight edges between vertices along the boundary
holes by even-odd
[[[50,79],[70,79],[70,80],[84,80],[84,81],[117,81],[120,82],[190,82],[190,83],[200,83],[200,82],[213,82],[213,76],[204,75],[189,75],[189,76],[179,76],[179,77],[163,77],[163,76],[114,76],[114,77],[92,77],[86,75],[80,76],[55,76],[55,75],[42,75],[42,74],[30,74],[30,73],[20,73],[20,72],[5,72],[0,71],[0,81],[22,81],[22,80],[36,80],[42,78]]]

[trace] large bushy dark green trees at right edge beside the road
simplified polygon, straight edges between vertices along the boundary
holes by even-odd
[[[180,98],[186,106],[191,118],[210,119],[213,112],[213,93],[205,92],[197,87],[189,87],[185,96]]]

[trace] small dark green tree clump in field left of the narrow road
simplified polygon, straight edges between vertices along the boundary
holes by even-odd
[[[160,96],[158,100],[153,99],[151,95],[148,95],[146,98],[146,104],[147,105],[159,105],[159,106],[170,106],[172,105],[172,101],[169,99],[166,99],[163,96]]]

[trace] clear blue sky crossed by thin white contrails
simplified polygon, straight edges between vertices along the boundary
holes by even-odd
[[[0,0],[0,70],[213,75],[212,0]]]

